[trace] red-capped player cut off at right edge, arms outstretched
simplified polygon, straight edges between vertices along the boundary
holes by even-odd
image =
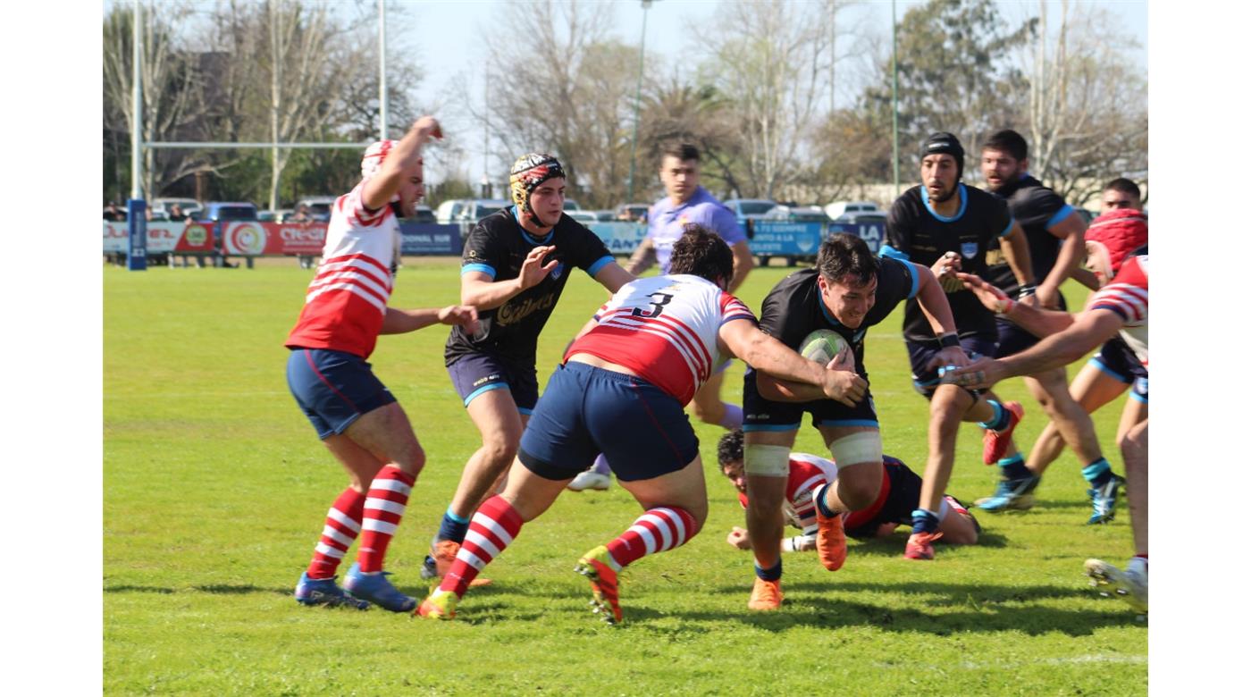
[[[1115,270],[1111,257],[1101,253],[1098,244],[1108,248],[1103,237],[1108,226],[1092,225],[1087,230],[1090,263],[1096,275],[1112,278],[1093,293],[1086,312],[1076,318],[1068,313],[1043,310],[1013,303],[1001,290],[972,275],[962,275],[986,307],[1011,318],[1021,327],[1046,337],[1033,348],[1001,359],[981,359],[952,370],[945,379],[965,385],[993,384],[1013,375],[1030,375],[1077,360],[1095,347],[1120,333],[1147,368],[1147,269],[1148,257],[1128,255]],[[1096,584],[1108,586],[1125,596],[1136,611],[1147,612],[1147,420],[1143,419],[1121,440],[1125,459],[1126,498],[1130,503],[1130,526],[1133,531],[1135,557],[1122,572],[1100,559],[1087,559],[1086,573]]]

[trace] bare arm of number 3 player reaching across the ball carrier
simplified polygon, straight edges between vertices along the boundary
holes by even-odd
[[[851,370],[828,370],[761,332],[753,322],[729,320],[718,332],[721,343],[748,365],[783,380],[819,385],[822,394],[848,407],[864,398],[868,383]]]

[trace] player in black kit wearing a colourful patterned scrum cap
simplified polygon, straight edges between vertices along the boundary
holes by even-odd
[[[513,204],[469,233],[460,267],[460,302],[478,309],[480,329],[454,328],[444,349],[452,383],[482,447],[469,457],[422,568],[443,576],[469,517],[517,454],[538,402],[534,370],[539,332],[577,267],[609,293],[634,277],[594,233],[564,215],[565,176],[552,155],[518,158],[509,175]]]

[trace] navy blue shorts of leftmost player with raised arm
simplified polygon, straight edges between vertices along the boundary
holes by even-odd
[[[362,414],[395,402],[364,358],[342,350],[291,349],[286,387],[323,439],[343,433]]]

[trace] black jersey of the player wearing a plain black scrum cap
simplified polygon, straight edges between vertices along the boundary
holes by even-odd
[[[933,268],[945,253],[955,252],[960,254],[961,270],[977,275],[986,273],[986,250],[992,242],[1012,231],[1012,214],[1003,199],[963,184],[957,184],[956,189],[960,209],[951,218],[940,216],[929,208],[929,193],[924,186],[913,186],[896,199],[886,218],[887,245],[882,254]],[[995,314],[971,290],[948,293],[947,303],[961,337],[996,334]],[[916,298],[903,308],[903,338],[909,342],[934,338]]]

